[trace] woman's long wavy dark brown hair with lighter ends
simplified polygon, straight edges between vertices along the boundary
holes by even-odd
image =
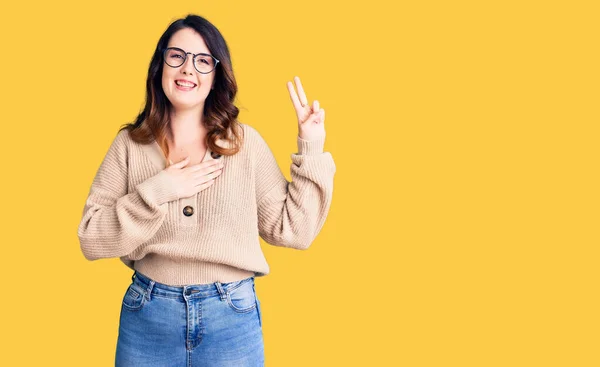
[[[189,14],[174,21],[162,34],[148,68],[146,106],[135,122],[122,125],[119,131],[129,130],[131,139],[141,144],[150,144],[156,140],[165,157],[169,156],[166,134],[173,106],[162,89],[162,50],[167,47],[171,36],[184,28],[191,28],[200,34],[210,53],[220,61],[213,71],[216,73],[214,88],[204,102],[203,122],[208,130],[205,143],[215,153],[234,155],[240,150],[243,136],[237,121],[239,109],[233,104],[237,94],[237,83],[233,75],[229,48],[221,32],[198,15]],[[218,146],[218,139],[229,142],[228,147]]]

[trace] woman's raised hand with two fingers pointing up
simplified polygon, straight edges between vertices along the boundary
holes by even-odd
[[[294,77],[298,94],[292,82],[287,82],[290,98],[298,116],[298,136],[304,140],[318,140],[325,137],[325,110],[319,107],[319,101],[308,104],[304,88],[299,77]]]

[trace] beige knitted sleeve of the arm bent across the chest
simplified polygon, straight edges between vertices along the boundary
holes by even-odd
[[[166,171],[128,193],[128,132],[117,134],[92,182],[77,234],[88,260],[120,257],[151,238],[177,199]]]

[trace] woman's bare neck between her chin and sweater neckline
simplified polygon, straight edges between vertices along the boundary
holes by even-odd
[[[198,144],[206,137],[206,127],[202,119],[203,110],[177,110],[171,112],[167,138],[173,147]]]

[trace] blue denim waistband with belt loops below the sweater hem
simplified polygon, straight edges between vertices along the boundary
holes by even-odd
[[[214,282],[209,284],[172,286],[156,282],[137,270],[134,270],[131,280],[144,291],[144,294],[148,299],[150,299],[151,295],[182,299],[219,295],[222,299],[225,299],[229,291],[236,289],[247,282],[254,283],[254,277],[249,277],[229,283]]]

